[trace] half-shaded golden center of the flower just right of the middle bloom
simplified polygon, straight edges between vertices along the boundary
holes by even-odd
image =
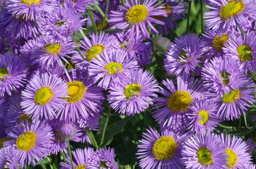
[[[189,92],[187,91],[177,91],[170,94],[167,101],[167,106],[171,111],[187,111],[187,108],[192,103],[193,99]]]

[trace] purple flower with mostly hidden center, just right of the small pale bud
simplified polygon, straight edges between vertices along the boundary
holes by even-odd
[[[164,67],[170,75],[189,75],[192,73],[204,54],[203,41],[197,35],[182,35],[175,39],[166,52]]]

